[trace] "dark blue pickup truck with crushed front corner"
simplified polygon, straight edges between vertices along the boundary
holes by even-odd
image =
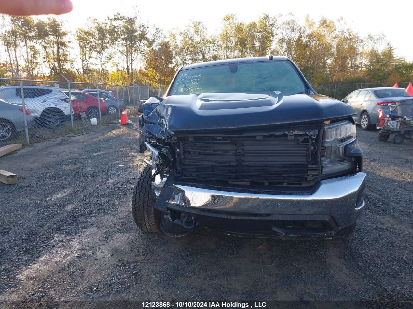
[[[184,66],[163,98],[143,104],[140,150],[151,159],[133,194],[137,226],[348,237],[366,176],[354,114],[285,57]]]

